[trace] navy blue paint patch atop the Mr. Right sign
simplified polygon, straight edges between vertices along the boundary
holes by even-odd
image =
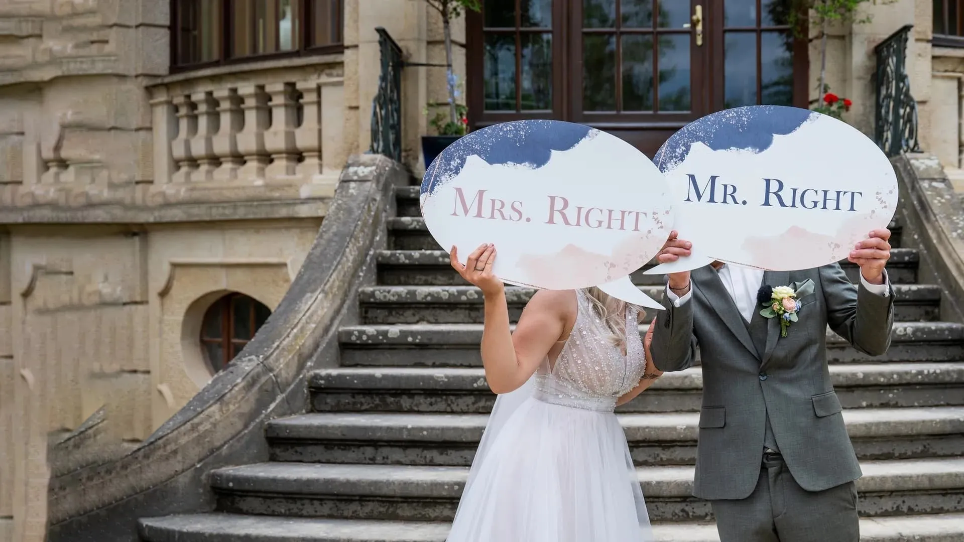
[[[773,136],[787,135],[817,115],[807,109],[781,105],[750,105],[725,109],[680,128],[656,151],[653,162],[666,173],[686,158],[690,146],[703,143],[713,150],[744,149],[763,152]]]

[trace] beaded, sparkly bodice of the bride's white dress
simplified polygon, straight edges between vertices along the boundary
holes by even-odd
[[[638,311],[626,312],[626,355],[584,290],[576,290],[576,325],[553,366],[536,372],[537,397],[564,406],[611,412],[616,399],[639,383],[646,369],[643,342],[636,333]]]

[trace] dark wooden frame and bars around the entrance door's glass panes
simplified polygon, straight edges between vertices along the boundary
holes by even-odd
[[[709,21],[704,23],[704,43],[701,49],[704,49],[701,55],[693,54],[693,57],[702,56],[701,62],[706,63],[704,66],[692,66],[691,67],[691,85],[700,85],[702,92],[694,93],[692,98],[691,112],[702,113],[703,115],[709,114],[711,111],[718,111],[723,109],[724,104],[724,87],[723,78],[725,74],[725,58],[723,54],[723,41],[724,41],[724,26],[723,26],[723,5],[721,2],[705,0],[699,2],[703,5],[704,20]],[[759,13],[759,0],[758,0],[758,13]],[[519,26],[519,9],[517,0],[517,10],[516,10],[516,24],[517,28]],[[692,8],[694,3],[690,5],[690,12],[692,13]],[[677,113],[677,112],[656,112],[656,113],[630,113],[630,114],[609,114],[605,113],[597,114],[591,112],[588,115],[581,112],[581,103],[576,103],[577,99],[581,97],[580,92],[572,92],[572,89],[567,88],[563,91],[563,85],[575,85],[572,81],[573,77],[579,78],[579,83],[581,84],[581,66],[575,66],[573,63],[573,54],[571,49],[573,45],[572,40],[578,39],[581,46],[581,20],[576,16],[581,14],[582,0],[556,0],[552,3],[552,110],[549,111],[522,111],[522,112],[502,112],[502,111],[485,111],[485,90],[482,82],[485,80],[485,33],[492,31],[516,31],[517,32],[517,49],[516,49],[516,80],[517,80],[517,103],[519,95],[519,80],[520,80],[520,55],[522,54],[519,49],[519,31],[516,29],[490,29],[485,28],[483,15],[475,12],[469,12],[467,14],[468,18],[466,21],[466,48],[467,48],[467,63],[468,63],[468,85],[467,85],[467,101],[469,105],[469,125],[473,128],[484,127],[487,125],[495,124],[497,122],[509,122],[517,121],[521,119],[567,119],[573,120],[574,122],[585,122],[590,123],[593,126],[599,127],[601,129],[608,129],[613,127],[619,128],[631,128],[631,129],[674,129],[682,127],[687,121],[674,120],[681,119],[684,115],[692,115],[693,113]],[[807,16],[803,15],[798,17],[800,24],[807,24]],[[718,22],[717,22],[718,21]],[[766,31],[770,27],[761,27],[758,29],[754,27],[752,30],[757,31],[758,35],[758,49],[761,32]],[[774,28],[776,30],[777,28]],[[535,29],[525,29],[525,31],[530,31]],[[541,29],[537,31],[545,32],[548,29]],[[656,29],[658,31],[658,29]],[[668,30],[668,29],[667,29]],[[727,28],[727,30],[736,30],[736,28]],[[746,30],[751,30],[749,27]],[[665,31],[665,30],[664,30]],[[790,29],[790,31],[792,31]],[[640,32],[653,33],[654,29],[643,30]],[[573,37],[576,38],[573,38]],[[799,32],[793,37],[793,106],[800,108],[809,108],[810,106],[810,96],[809,96],[809,70],[810,70],[810,58],[809,58],[809,41],[806,29]],[[696,48],[695,43],[691,41],[691,51]],[[757,70],[758,79],[761,60],[760,53],[758,52],[757,59]],[[699,75],[695,73],[700,71]],[[702,77],[702,80],[695,79],[696,77]],[[758,96],[759,94],[760,82],[758,81]],[[581,89],[581,87],[580,87]],[[758,97],[759,99],[759,97]],[[576,111],[578,109],[579,111]],[[611,119],[609,118],[611,117]]]

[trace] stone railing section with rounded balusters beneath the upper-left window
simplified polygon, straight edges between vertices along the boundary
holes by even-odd
[[[152,201],[331,197],[346,158],[340,59],[295,60],[148,87]]]

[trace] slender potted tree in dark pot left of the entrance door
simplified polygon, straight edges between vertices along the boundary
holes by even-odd
[[[482,9],[481,0],[425,0],[428,5],[442,15],[442,30],[445,39],[445,81],[448,83],[447,112],[439,112],[429,124],[435,129],[436,135],[422,136],[422,154],[425,157],[427,169],[432,160],[453,141],[466,135],[469,131],[469,109],[455,101],[456,78],[452,72],[452,31],[450,21],[458,17],[463,10],[478,12]]]

